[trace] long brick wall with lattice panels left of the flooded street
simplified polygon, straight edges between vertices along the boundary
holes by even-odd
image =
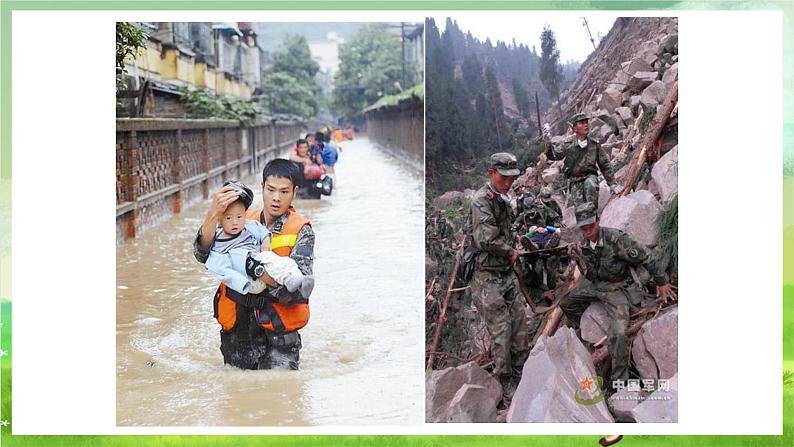
[[[301,123],[243,127],[229,120],[116,120],[116,241],[134,238],[292,147]],[[251,160],[256,160],[252,166]]]

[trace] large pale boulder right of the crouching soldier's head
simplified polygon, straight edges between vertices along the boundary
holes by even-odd
[[[655,223],[661,210],[653,194],[635,191],[609,202],[601,214],[601,226],[623,230],[641,244],[656,245]]]

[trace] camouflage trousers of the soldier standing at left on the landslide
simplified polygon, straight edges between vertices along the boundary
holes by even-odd
[[[471,282],[471,294],[491,335],[493,373],[500,379],[520,371],[529,355],[537,322],[527,315],[527,305],[520,296],[515,273],[477,270]]]

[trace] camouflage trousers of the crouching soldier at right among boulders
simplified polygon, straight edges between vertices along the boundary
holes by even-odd
[[[612,377],[615,380],[628,380],[629,378],[629,342],[628,328],[630,316],[630,294],[635,292],[630,290],[637,288],[626,283],[593,283],[582,278],[579,285],[574,288],[562,302],[562,308],[566,317],[577,327],[582,314],[587,307],[600,301],[604,304],[609,315],[609,330],[607,333],[607,347],[612,358]],[[639,289],[637,288],[637,291]]]

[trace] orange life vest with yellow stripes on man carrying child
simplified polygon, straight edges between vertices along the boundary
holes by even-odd
[[[311,225],[309,219],[301,216],[295,209],[290,207],[289,216],[284,222],[281,229],[274,228],[273,235],[270,239],[270,250],[279,256],[289,256],[292,252],[292,247],[295,246],[295,240],[298,237],[298,232],[304,225]],[[262,210],[248,210],[246,219],[257,219],[262,222]],[[262,222],[264,224],[264,222]],[[279,230],[279,231],[276,231]],[[242,304],[243,301],[255,299],[258,295],[242,295],[232,289],[226,287],[221,283],[215,293],[215,319],[221,325],[224,331],[231,331],[237,324],[237,306]],[[295,304],[282,305],[272,298],[263,298],[258,300],[260,305],[257,305],[255,312],[257,320],[260,321],[259,326],[262,329],[271,332],[284,333],[296,331],[309,322],[309,301],[301,300]],[[260,318],[264,313],[267,318]],[[262,322],[263,320],[267,320]]]

